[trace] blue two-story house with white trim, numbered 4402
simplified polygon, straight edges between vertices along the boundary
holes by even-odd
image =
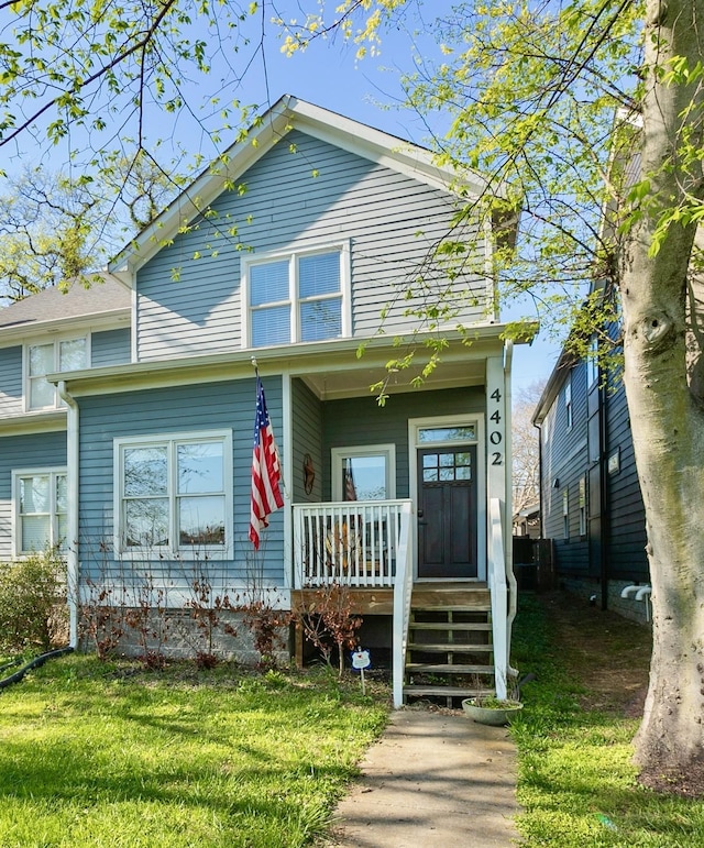
[[[409,387],[420,366],[392,373],[381,407],[370,386],[433,335],[414,334],[408,313],[426,295],[404,293],[420,268],[444,277],[432,247],[458,208],[457,176],[292,97],[221,166],[102,286],[0,312],[2,555],[64,539],[84,602],[102,587],[113,604],[175,610],[204,572],[230,597],[284,609],[348,583],[361,639],[393,656],[396,704],[458,697],[475,672],[503,693],[516,585],[512,344],[486,272],[496,233],[482,232],[481,274],[442,284],[448,298],[474,295],[452,318],[465,331],[440,328],[441,365],[420,388]],[[485,186],[472,177],[462,190]],[[253,355],[285,482],[257,552]],[[446,672],[455,678],[439,685]]]

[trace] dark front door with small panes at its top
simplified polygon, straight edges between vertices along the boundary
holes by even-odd
[[[418,450],[418,576],[476,577],[476,445]]]

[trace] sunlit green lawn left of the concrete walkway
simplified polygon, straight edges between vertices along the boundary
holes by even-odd
[[[0,692],[0,844],[282,848],[321,833],[387,693],[70,656]]]

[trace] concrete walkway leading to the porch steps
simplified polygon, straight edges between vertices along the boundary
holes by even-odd
[[[402,709],[339,804],[344,848],[509,848],[519,841],[515,747],[504,727]]]

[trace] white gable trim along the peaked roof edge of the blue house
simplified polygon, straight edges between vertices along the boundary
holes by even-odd
[[[223,190],[223,180],[237,180],[264,156],[290,130],[297,129],[358,156],[405,174],[433,188],[452,191],[459,181],[480,196],[486,190],[482,178],[470,172],[462,175],[439,167],[425,147],[395,135],[344,118],[328,109],[307,103],[292,95],[282,97],[207,170],[176,198],[148,227],[133,239],[110,263],[109,269],[120,275],[134,271],[154,256],[173,239],[184,221],[190,221],[208,208]]]

